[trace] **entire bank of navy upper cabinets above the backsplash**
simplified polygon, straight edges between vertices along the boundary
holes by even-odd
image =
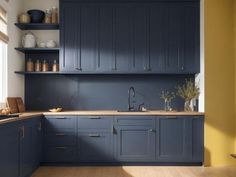
[[[200,71],[199,2],[60,1],[60,70],[76,73]]]

